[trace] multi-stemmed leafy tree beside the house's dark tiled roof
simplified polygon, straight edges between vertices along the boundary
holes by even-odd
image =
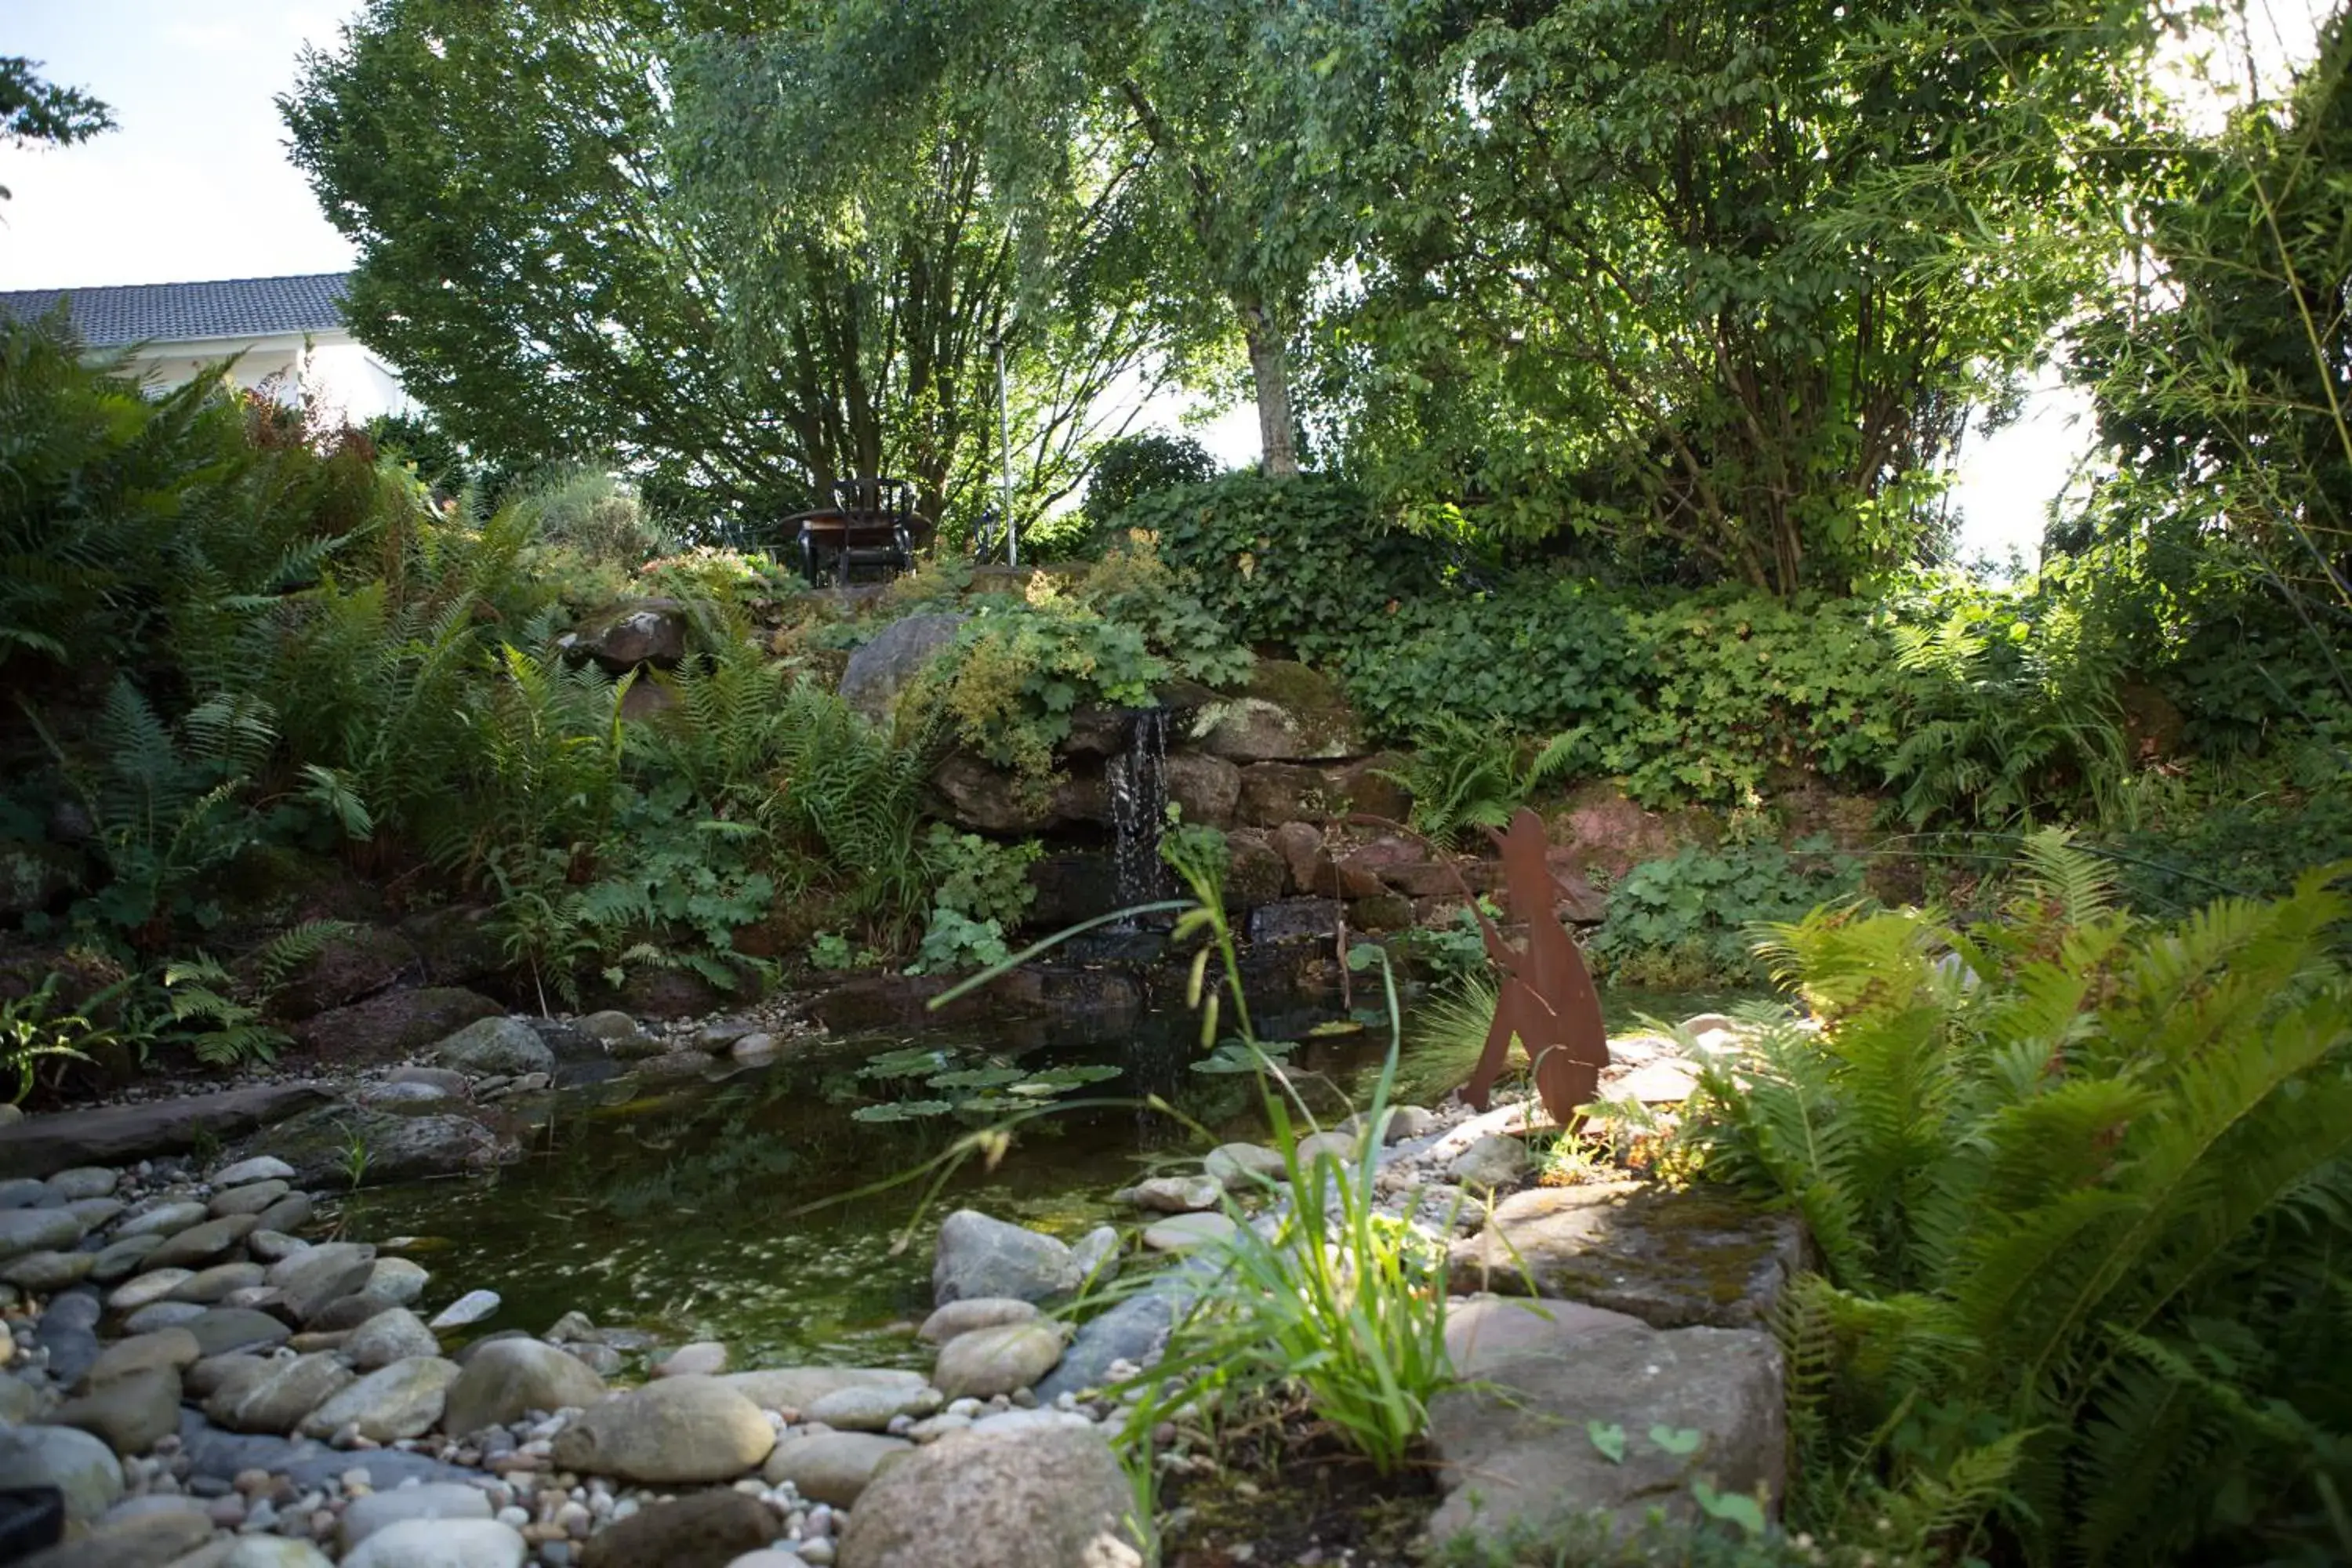
[[[906,162],[835,158],[875,143],[875,96],[821,80],[833,7],[487,9],[372,0],[282,103],[360,242],[358,336],[506,463],[609,451],[753,515],[877,470],[960,505],[1009,240],[955,106],[917,106]],[[1025,423],[1089,430],[1148,334],[1080,289],[1040,315],[1094,371],[1023,376]],[[1084,442],[1042,444],[1023,480],[1068,484]]]

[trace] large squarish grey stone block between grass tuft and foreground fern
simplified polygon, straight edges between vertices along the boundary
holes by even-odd
[[[1465,1385],[1430,1401],[1430,1450],[1449,1493],[1430,1521],[1437,1542],[1541,1537],[1590,1512],[1618,1528],[1651,1509],[1696,1519],[1691,1481],[1700,1476],[1726,1493],[1766,1486],[1780,1495],[1780,1349],[1766,1333],[1656,1331],[1573,1302],[1550,1302],[1538,1316],[1482,1298],[1456,1302],[1446,1345]],[[1576,1439],[1588,1422],[1623,1429],[1621,1460]],[[1653,1427],[1696,1432],[1698,1450],[1670,1453],[1649,1436]]]

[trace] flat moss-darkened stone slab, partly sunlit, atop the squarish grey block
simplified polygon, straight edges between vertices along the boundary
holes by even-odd
[[[1649,1182],[1531,1187],[1454,1244],[1451,1288],[1550,1295],[1651,1328],[1762,1326],[1804,1262],[1795,1215]]]

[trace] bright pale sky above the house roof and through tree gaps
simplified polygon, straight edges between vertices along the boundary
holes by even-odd
[[[2253,0],[2263,66],[2307,52],[2331,0]],[[336,273],[350,244],[285,158],[273,99],[334,0],[0,0],[0,54],[113,106],[122,129],[75,148],[0,146],[0,289]],[[1171,407],[1174,428],[1185,409]],[[1258,456],[1251,409],[1197,430],[1223,463]],[[1962,557],[2037,555],[2049,503],[2089,444],[2086,397],[2044,374],[2020,418],[1964,444]]]

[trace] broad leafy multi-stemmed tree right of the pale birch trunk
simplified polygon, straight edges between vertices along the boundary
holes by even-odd
[[[2112,263],[2136,0],[1369,7],[1399,63],[1334,444],[1494,534],[1846,588]]]

